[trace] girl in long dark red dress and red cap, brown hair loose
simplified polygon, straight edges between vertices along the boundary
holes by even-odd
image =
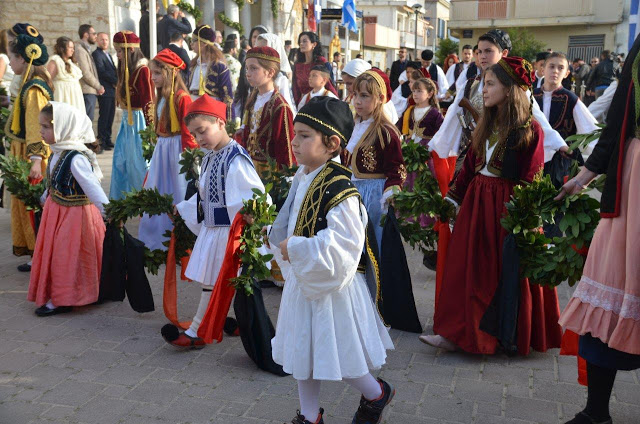
[[[501,278],[503,241],[500,225],[505,203],[516,184],[526,184],[544,165],[543,133],[532,120],[527,98],[533,79],[531,64],[505,57],[487,69],[484,112],[474,132],[472,149],[447,193],[460,212],[446,256],[442,291],[437,299],[433,331],[420,340],[445,350],[493,354],[498,339],[480,329]],[[516,283],[518,284],[518,283]],[[504,346],[527,355],[560,346],[560,309],[555,289],[519,281],[516,336]],[[484,327],[483,327],[484,328]],[[502,341],[502,340],[501,340]]]

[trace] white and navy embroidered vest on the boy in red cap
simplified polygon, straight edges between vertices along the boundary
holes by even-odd
[[[207,227],[228,227],[231,225],[233,217],[229,216],[227,210],[225,190],[229,166],[238,155],[244,156],[253,166],[249,152],[234,140],[231,140],[218,152],[209,152],[202,161],[202,174],[205,173],[205,170],[208,174],[206,181],[200,182],[206,187],[204,200],[200,198],[200,190],[198,189],[198,222],[204,220],[204,225]]]

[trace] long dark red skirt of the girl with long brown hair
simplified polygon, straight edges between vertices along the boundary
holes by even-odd
[[[497,339],[479,326],[500,280],[506,235],[500,218],[513,186],[503,178],[477,175],[469,185],[451,234],[433,330],[466,352],[493,354],[498,345]],[[521,280],[518,353],[527,355],[530,347],[541,352],[560,347],[559,316],[555,288]]]

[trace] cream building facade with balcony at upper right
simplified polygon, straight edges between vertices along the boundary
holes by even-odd
[[[628,0],[451,0],[449,28],[460,44],[475,44],[491,28],[526,28],[570,59],[626,51],[619,25]]]

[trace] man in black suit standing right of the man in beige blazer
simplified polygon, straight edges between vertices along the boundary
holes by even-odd
[[[98,117],[98,140],[103,150],[113,149],[111,142],[111,127],[116,113],[116,84],[118,83],[118,72],[113,58],[109,54],[109,34],[101,32],[98,34],[98,48],[91,53],[96,64],[98,80],[104,87],[104,94],[98,96],[98,107],[100,116]]]

